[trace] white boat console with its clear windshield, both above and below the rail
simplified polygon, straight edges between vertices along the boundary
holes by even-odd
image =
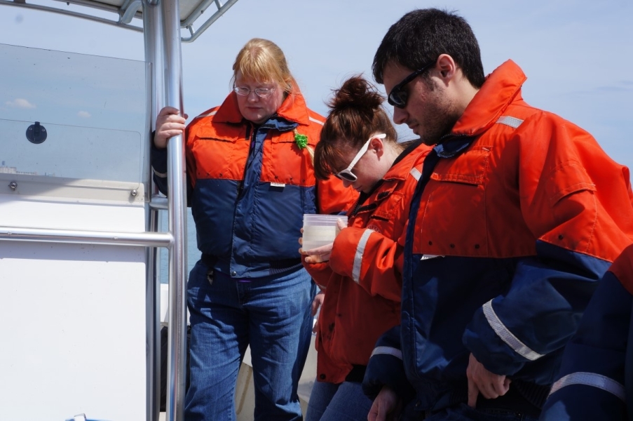
[[[0,63],[0,225],[144,232],[148,65],[1,44]],[[145,248],[8,240],[0,419],[147,419]]]

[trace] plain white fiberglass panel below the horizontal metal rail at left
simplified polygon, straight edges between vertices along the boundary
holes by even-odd
[[[1,242],[2,420],[146,419],[144,250]]]

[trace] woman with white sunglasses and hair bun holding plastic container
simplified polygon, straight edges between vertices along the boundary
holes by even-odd
[[[404,225],[430,147],[398,143],[382,103],[362,77],[345,81],[329,101],[315,148],[317,178],[335,175],[360,198],[334,243],[301,250],[325,291],[306,421],[367,420],[372,401],[362,393],[365,366],[379,336],[400,323]]]

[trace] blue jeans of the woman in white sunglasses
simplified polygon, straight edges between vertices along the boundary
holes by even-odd
[[[306,421],[366,421],[373,401],[360,383],[314,382]]]

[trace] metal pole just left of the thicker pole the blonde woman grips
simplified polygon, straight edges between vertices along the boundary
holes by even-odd
[[[149,107],[148,142],[151,142],[151,132],[156,129],[156,115],[165,102],[165,83],[163,81],[163,34],[161,32],[163,15],[161,8],[143,1],[143,35],[145,44],[145,61],[151,65],[149,77],[151,86],[151,104]],[[145,156],[149,156],[149,145],[146,145]],[[146,179],[151,185],[150,191],[157,193],[157,188],[151,182],[151,168],[147,166]],[[158,231],[158,209],[146,207],[147,231]],[[158,282],[158,249],[147,248],[147,284],[145,286],[145,308],[147,320],[147,421],[158,421],[161,403],[161,320],[160,298],[161,286]]]

